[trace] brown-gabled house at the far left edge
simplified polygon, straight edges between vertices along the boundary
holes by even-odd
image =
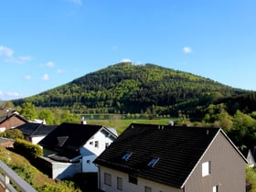
[[[16,126],[27,123],[27,119],[20,116],[16,111],[1,110],[0,112],[0,132],[13,129]]]

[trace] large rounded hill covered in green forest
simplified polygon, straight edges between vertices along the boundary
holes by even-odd
[[[36,106],[59,107],[76,112],[145,112],[154,106],[164,112],[169,106],[195,101],[212,92],[229,97],[246,91],[175,69],[128,62],[91,72],[14,103],[18,105],[30,101]]]

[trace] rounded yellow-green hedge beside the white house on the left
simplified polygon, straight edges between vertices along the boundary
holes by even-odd
[[[16,153],[24,155],[28,160],[35,160],[38,156],[43,155],[43,149],[37,145],[22,139],[16,139],[14,143]]]

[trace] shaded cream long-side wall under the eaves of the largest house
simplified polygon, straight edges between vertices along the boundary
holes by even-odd
[[[108,186],[104,184],[104,173],[110,174],[112,177],[112,184]],[[117,177],[121,177],[123,180],[123,190],[117,189]],[[99,166],[99,188],[105,192],[141,192],[145,191],[145,187],[151,187],[152,192],[183,192],[183,189],[169,187],[163,184],[159,184],[144,178],[138,177],[138,184],[129,183],[129,176],[126,173],[112,170],[110,168]]]

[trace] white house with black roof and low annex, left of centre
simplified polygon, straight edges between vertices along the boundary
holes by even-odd
[[[117,135],[101,125],[62,123],[38,144],[43,146],[45,167],[52,178],[76,173],[97,173],[92,162]]]

